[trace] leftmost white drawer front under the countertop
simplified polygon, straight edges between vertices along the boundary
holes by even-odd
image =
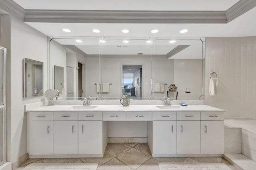
[[[29,112],[30,121],[53,121],[53,112]]]

